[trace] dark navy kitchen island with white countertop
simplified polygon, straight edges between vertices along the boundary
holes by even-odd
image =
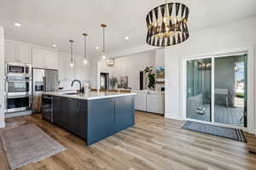
[[[43,97],[52,99],[51,122],[78,135],[86,145],[90,145],[134,125],[135,95],[49,92]]]

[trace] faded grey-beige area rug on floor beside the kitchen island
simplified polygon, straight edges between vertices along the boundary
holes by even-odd
[[[12,170],[66,150],[33,124],[4,130],[0,137]]]

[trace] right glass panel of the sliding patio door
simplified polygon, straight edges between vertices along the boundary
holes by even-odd
[[[247,55],[214,59],[214,122],[247,127]]]

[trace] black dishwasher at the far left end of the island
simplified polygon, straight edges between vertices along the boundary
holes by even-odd
[[[53,97],[50,95],[42,95],[41,103],[42,118],[45,121],[53,122]]]

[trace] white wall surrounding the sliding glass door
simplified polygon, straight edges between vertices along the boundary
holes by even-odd
[[[212,27],[203,31],[190,32],[189,40],[179,45],[166,48],[166,117],[183,119],[182,86],[183,71],[182,60],[185,57],[193,57],[204,54],[224,53],[239,48],[248,48],[249,65],[254,67],[254,48],[256,41],[256,17],[245,20],[236,20],[218,27]],[[255,60],[255,59],[254,59]],[[249,130],[255,129],[255,114],[253,99],[256,97],[254,91],[255,70],[248,71],[250,95],[248,107],[253,117],[248,120]],[[249,118],[248,118],[249,119]]]

